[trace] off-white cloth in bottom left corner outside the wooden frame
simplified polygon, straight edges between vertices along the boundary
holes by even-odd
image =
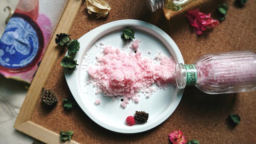
[[[24,83],[0,76],[0,143],[31,144],[35,140],[13,128],[26,94]]]

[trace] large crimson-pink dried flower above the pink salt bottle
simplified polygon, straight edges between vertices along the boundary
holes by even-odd
[[[190,24],[196,28],[197,35],[201,35],[206,27],[216,27],[219,25],[219,20],[213,20],[211,13],[205,14],[199,9],[189,10],[186,14]]]

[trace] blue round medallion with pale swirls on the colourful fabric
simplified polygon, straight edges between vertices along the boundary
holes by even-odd
[[[0,40],[0,65],[22,68],[30,64],[39,47],[35,29],[24,19],[12,17]]]

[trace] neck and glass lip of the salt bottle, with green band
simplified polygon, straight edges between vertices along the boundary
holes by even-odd
[[[184,65],[177,63],[175,73],[176,84],[180,89],[185,88],[187,85],[196,85],[197,69],[194,64]]]

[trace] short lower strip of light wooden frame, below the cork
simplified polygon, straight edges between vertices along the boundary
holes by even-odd
[[[44,143],[63,143],[63,144],[79,144],[74,140],[67,140],[65,142],[60,141],[60,134],[53,132],[51,130],[46,129],[45,127],[33,123],[31,121],[27,121],[25,123],[21,123],[15,125],[15,129],[20,132],[26,133],[29,136],[40,140]]]

